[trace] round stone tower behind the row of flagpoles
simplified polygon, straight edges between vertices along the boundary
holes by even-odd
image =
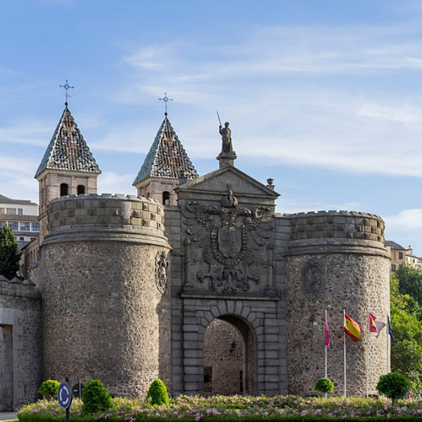
[[[360,340],[346,338],[347,395],[376,394],[387,373],[386,329],[368,333],[368,312],[381,321],[390,309],[390,260],[384,247],[384,222],[363,212],[308,212],[290,216],[286,252],[289,393],[311,393],[325,373],[325,309],[330,346],[327,376],[334,393],[344,392],[343,309],[362,326]],[[369,343],[368,343],[369,342]]]

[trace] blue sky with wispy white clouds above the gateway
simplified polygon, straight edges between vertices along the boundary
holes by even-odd
[[[167,91],[201,175],[219,110],[279,212],[371,212],[422,256],[421,1],[1,0],[0,38],[2,195],[38,202],[65,79],[98,191],[136,193]]]

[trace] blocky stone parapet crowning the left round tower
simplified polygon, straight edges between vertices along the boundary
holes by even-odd
[[[44,245],[66,241],[139,242],[167,246],[164,208],[151,198],[109,193],[65,196],[49,203],[49,234]]]

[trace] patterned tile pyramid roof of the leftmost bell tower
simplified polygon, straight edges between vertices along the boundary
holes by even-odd
[[[67,103],[35,177],[46,169],[101,173]]]

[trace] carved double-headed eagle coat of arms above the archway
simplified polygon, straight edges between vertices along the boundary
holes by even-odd
[[[252,274],[252,264],[264,267],[264,245],[271,243],[273,217],[267,207],[238,207],[229,190],[221,206],[190,202],[184,206],[188,243],[203,248],[207,271],[198,271],[196,279],[207,282],[217,293],[247,293],[250,283],[260,283]]]

